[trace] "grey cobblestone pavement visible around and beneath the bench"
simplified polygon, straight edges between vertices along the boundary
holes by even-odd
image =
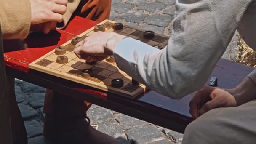
[[[171,35],[176,0],[112,0],[111,20]],[[234,59],[236,37],[223,58]],[[45,88],[16,80],[16,97],[27,129],[29,144],[49,144],[42,136]],[[129,144],[181,144],[183,135],[137,120],[109,109],[93,105],[88,110],[91,124],[99,131]],[[124,138],[124,139],[122,139]]]

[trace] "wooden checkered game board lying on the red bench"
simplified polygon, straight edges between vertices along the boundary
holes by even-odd
[[[136,40],[140,40],[160,49],[165,48],[168,43],[168,37],[163,35],[155,34],[154,38],[145,39],[143,37],[144,30],[136,29],[134,27],[128,27],[124,25],[122,30],[114,30],[112,29],[112,24],[114,23],[115,21],[105,20],[98,25],[105,27],[106,32],[117,32],[120,35],[132,37]],[[93,29],[94,27],[88,29],[78,36],[85,38],[89,34],[95,33]],[[97,62],[97,64],[94,65],[86,64],[85,60],[79,59],[73,52],[74,45],[71,44],[71,40],[61,46],[67,50],[67,52],[64,54],[68,57],[68,62],[66,64],[59,64],[56,62],[56,58],[59,55],[54,53],[54,49],[53,51],[45,54],[41,58],[29,64],[29,68],[129,98],[135,98],[147,89],[146,86],[142,84],[133,85],[131,83],[132,78],[125,72],[121,71],[117,67],[116,63],[109,63],[106,60],[103,60]],[[91,78],[83,77],[81,75],[83,69],[92,69],[93,76]],[[117,78],[123,79],[123,87],[114,88],[111,86],[111,80]]]

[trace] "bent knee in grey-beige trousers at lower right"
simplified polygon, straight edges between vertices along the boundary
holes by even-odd
[[[190,123],[182,144],[253,144],[256,101],[239,107],[213,109]]]

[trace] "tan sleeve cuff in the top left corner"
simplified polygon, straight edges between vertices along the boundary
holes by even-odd
[[[31,24],[30,0],[0,0],[3,39],[24,39]]]

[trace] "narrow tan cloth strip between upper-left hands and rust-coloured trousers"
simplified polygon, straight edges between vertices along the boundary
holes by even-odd
[[[57,26],[58,29],[63,29],[64,27],[67,26],[67,23],[69,22],[69,19],[71,18],[72,14],[77,9],[80,1],[81,0],[68,0],[67,11],[63,15],[63,22],[58,24],[58,26]]]

